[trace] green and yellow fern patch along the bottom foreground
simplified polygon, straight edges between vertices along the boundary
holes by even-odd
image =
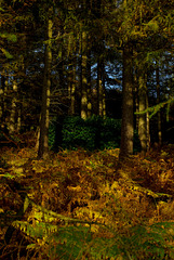
[[[12,225],[36,242],[27,250],[40,248],[51,260],[162,260],[174,256],[173,222],[137,225],[126,234],[117,234],[107,225],[48,210],[26,196],[24,209],[29,205],[32,209],[28,221],[15,220]],[[98,225],[97,232],[92,232],[92,225]]]

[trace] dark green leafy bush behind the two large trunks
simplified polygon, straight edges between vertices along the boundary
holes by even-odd
[[[121,119],[92,116],[83,120],[79,116],[68,116],[63,121],[62,133],[56,131],[57,122],[50,123],[49,144],[57,151],[62,148],[76,150],[82,147],[88,151],[118,148],[121,141]],[[61,143],[56,143],[62,134]],[[137,132],[134,133],[134,152],[140,150]]]

